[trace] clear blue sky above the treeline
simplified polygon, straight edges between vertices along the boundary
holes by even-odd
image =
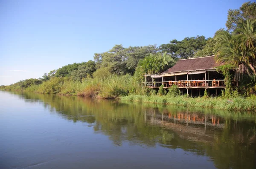
[[[244,0],[0,0],[0,85],[74,62],[115,44],[145,46],[212,37]]]

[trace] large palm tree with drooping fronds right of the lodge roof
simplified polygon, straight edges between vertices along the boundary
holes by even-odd
[[[232,34],[219,32],[215,40],[217,61],[236,67],[236,79],[245,72],[251,77],[256,76],[256,20],[247,20]]]

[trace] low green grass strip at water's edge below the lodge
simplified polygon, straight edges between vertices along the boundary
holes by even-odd
[[[256,110],[256,97],[237,97],[233,99],[227,99],[223,97],[186,97],[185,95],[170,97],[170,96],[140,96],[129,95],[120,97],[121,100],[137,101],[145,103],[162,103],[172,104],[179,106],[194,106],[194,107],[207,107],[213,109],[225,109],[225,110]]]

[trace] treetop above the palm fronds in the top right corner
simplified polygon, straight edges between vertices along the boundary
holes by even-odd
[[[227,31],[233,32],[239,23],[246,23],[248,19],[256,18],[256,3],[251,3],[250,1],[244,3],[240,9],[230,9],[227,15]]]

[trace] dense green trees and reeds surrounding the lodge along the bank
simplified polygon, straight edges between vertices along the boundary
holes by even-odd
[[[38,79],[21,80],[0,88],[101,97],[148,95],[141,85],[143,74],[163,72],[179,59],[209,55],[216,55],[216,61],[225,61],[225,69],[236,70],[240,94],[256,93],[255,2],[230,9],[226,29],[217,30],[214,37],[185,37],[160,46],[115,45],[107,52],[95,53],[94,60],[69,64]]]

